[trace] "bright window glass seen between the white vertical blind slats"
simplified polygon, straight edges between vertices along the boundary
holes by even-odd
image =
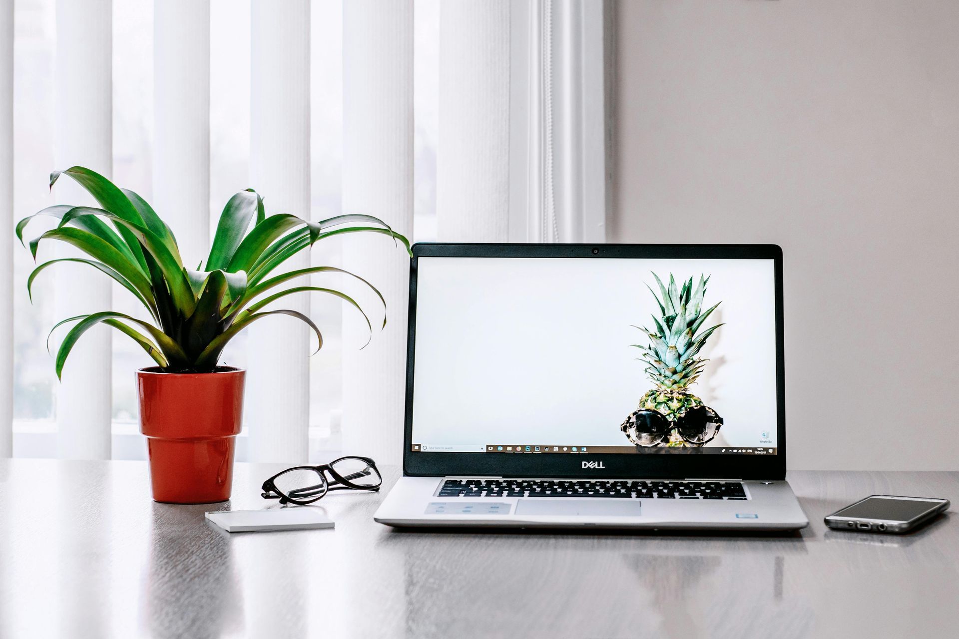
[[[216,225],[227,198],[247,187],[249,165],[248,0],[212,0],[210,34],[210,211]],[[18,0],[14,6],[14,218],[54,203],[47,176],[54,159],[54,59],[57,45],[55,0]],[[342,30],[339,0],[314,2],[312,11],[312,216],[340,211],[342,122]],[[113,3],[113,180],[153,199],[153,3]],[[439,0],[416,0],[415,50],[415,223],[414,240],[435,238],[436,103]],[[269,194],[268,206],[269,206]],[[161,212],[162,215],[162,212]],[[28,229],[34,237],[40,223]],[[211,233],[212,236],[212,233]],[[339,246],[321,249],[339,262]],[[14,451],[17,456],[53,457],[56,446],[58,380],[44,346],[57,317],[52,272],[35,283],[31,304],[25,282],[34,262],[14,250]],[[340,403],[340,307],[314,299],[312,314],[324,331],[323,351],[311,361],[311,424],[316,443],[335,446]],[[114,285],[113,308],[138,314],[133,300]],[[234,340],[224,358],[243,366],[246,340]],[[136,435],[133,371],[152,361],[129,339],[113,337],[113,457],[143,458]],[[332,418],[331,418],[332,416]],[[331,430],[331,424],[334,428]],[[331,439],[331,433],[333,435]],[[243,459],[244,446],[239,446]]]

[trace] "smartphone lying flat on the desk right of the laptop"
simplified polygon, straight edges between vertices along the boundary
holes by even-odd
[[[873,494],[826,516],[836,530],[901,535],[949,507],[948,499]]]

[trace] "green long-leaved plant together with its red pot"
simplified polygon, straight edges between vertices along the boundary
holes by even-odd
[[[336,272],[356,278],[386,308],[380,291],[353,273],[313,266],[276,274],[277,268],[316,241],[346,233],[382,233],[402,242],[408,252],[409,241],[372,216],[343,215],[319,222],[286,214],[267,217],[263,198],[247,189],[226,203],[209,257],[198,270],[191,270],[183,265],[170,227],[142,197],[82,167],[52,173],[51,188],[61,175],[73,178],[101,208],[43,209],[17,223],[17,238],[23,242],[24,228],[34,217],[55,217],[56,228],[30,241],[34,258],[43,240],[72,244],[89,258],[60,258],[37,265],[27,279],[31,299],[34,280],[44,269],[58,262],[81,262],[129,290],[150,319],[103,310],[60,321],[54,330],[63,324],[73,326],[57,353],[57,377],[77,340],[90,328],[105,324],[128,335],[156,362],[136,374],[153,499],[180,504],[228,499],[233,441],[242,423],[245,372],[219,365],[223,347],[253,322],[273,314],[306,322],[322,346],[316,324],[303,313],[264,309],[304,291],[334,295],[360,309],[372,336],[369,317],[353,298],[332,288],[292,285],[311,273]]]

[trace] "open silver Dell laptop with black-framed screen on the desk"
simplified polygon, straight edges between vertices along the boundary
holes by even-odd
[[[390,526],[795,530],[775,245],[418,243]]]

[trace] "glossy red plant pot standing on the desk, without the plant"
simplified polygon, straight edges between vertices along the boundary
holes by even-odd
[[[245,376],[225,366],[213,373],[136,372],[154,500],[208,504],[230,498]]]

